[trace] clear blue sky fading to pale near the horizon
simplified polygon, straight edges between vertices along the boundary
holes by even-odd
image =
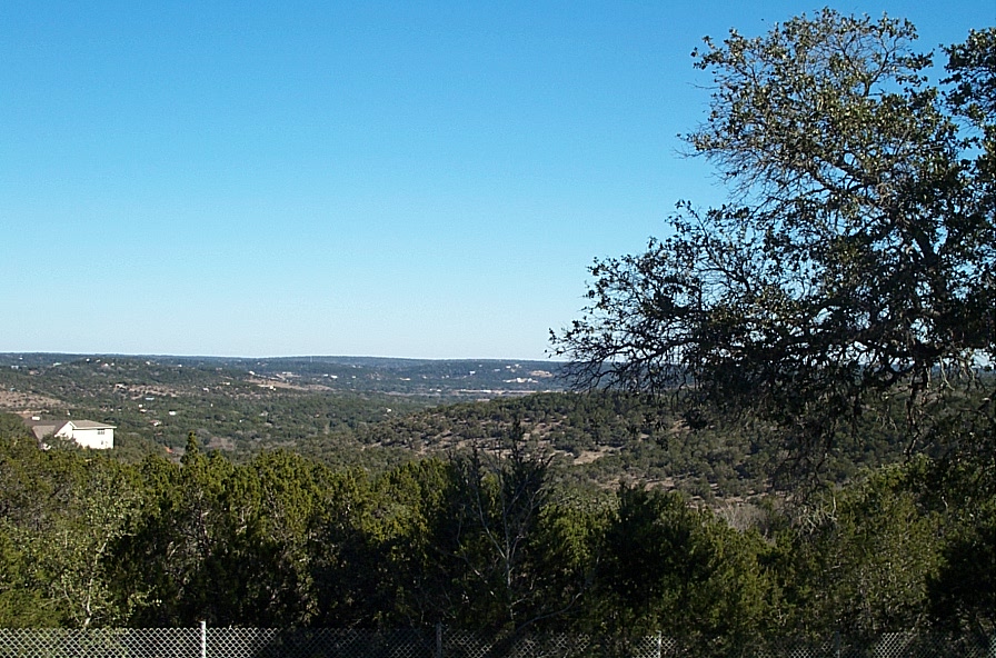
[[[819,7],[4,0],[0,351],[545,358],[594,258],[723,200],[693,48]]]

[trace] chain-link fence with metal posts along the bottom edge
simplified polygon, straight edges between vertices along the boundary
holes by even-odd
[[[861,640],[777,639],[735,647],[661,636],[491,637],[415,630],[271,628],[0,629],[0,658],[996,658],[996,637],[885,634]]]

